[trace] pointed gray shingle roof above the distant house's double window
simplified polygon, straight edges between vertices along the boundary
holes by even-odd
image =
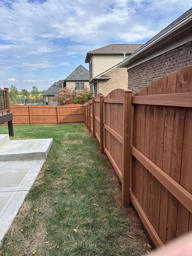
[[[82,65],[79,65],[65,78],[65,81],[89,81],[89,71]]]

